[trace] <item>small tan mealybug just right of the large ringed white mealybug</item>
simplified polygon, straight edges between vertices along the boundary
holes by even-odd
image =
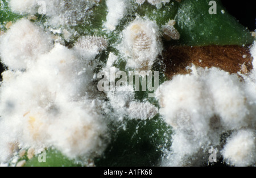
[[[175,23],[176,23],[175,20],[170,20],[166,25],[164,25],[162,27],[164,38],[166,40],[171,40],[171,39],[179,40],[180,39],[180,33],[174,27]]]

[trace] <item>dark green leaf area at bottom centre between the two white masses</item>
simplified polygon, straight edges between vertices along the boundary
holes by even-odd
[[[171,127],[159,115],[145,121],[125,119],[112,128],[112,142],[96,166],[154,166],[170,148]]]

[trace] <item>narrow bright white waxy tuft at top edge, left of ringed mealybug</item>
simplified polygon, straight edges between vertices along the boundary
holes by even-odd
[[[104,26],[108,30],[115,30],[119,20],[128,13],[129,1],[127,0],[107,0],[106,6],[108,7],[108,15]]]

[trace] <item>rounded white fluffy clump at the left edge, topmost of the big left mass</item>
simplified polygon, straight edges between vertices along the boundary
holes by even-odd
[[[27,68],[28,63],[51,48],[49,35],[27,19],[14,23],[0,41],[2,63],[10,69]]]

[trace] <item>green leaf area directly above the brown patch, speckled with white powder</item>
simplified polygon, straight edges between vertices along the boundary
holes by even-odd
[[[216,0],[217,14],[209,14],[209,1],[181,1],[175,20],[183,45],[246,45],[253,43],[250,31],[228,14]],[[241,2],[242,3],[242,2]]]

